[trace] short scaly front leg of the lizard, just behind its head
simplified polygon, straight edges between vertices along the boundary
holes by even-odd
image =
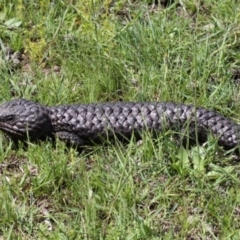
[[[55,135],[69,146],[81,147],[84,143],[78,135],[67,131],[56,132]]]

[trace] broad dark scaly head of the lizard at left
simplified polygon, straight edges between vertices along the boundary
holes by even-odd
[[[38,139],[51,129],[48,108],[25,99],[0,105],[0,130],[13,140]]]

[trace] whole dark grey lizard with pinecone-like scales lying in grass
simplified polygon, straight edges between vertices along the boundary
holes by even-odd
[[[0,106],[0,130],[14,141],[57,136],[81,146],[111,136],[168,129],[197,133],[204,141],[212,133],[227,148],[240,143],[240,125],[215,111],[192,105],[117,102],[47,107],[17,99]]]

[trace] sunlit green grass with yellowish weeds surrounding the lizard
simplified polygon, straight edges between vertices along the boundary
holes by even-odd
[[[24,58],[1,53],[1,102],[170,100],[239,119],[237,1],[52,2],[0,3],[0,44]],[[239,239],[238,160],[171,131],[80,154],[1,135],[0,238]]]

